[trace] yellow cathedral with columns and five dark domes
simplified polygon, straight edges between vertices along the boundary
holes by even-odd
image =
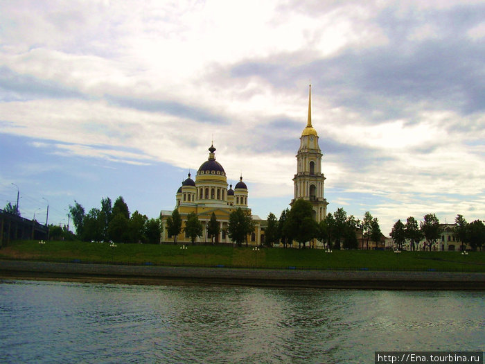
[[[212,213],[220,224],[220,234],[215,236],[215,243],[233,243],[227,234],[227,227],[229,224],[229,214],[235,209],[251,209],[247,207],[248,191],[243,177],[236,184],[234,189],[232,185],[227,188],[227,176],[224,168],[219,162],[215,160],[215,148],[213,145],[209,148],[209,158],[202,163],[197,170],[195,181],[188,173],[188,177],[176,194],[176,208],[182,217],[182,232],[177,236],[179,243],[190,243],[191,239],[184,233],[184,226],[188,214],[194,212],[202,222],[204,228],[202,237],[195,240],[196,243],[209,243],[211,238],[207,234],[207,224],[211,220]],[[166,229],[166,219],[171,216],[172,211],[161,211],[162,224],[164,231],[162,232],[161,241],[173,241],[173,236],[168,236]],[[261,218],[252,216],[255,222],[254,232],[247,236],[247,241],[250,245],[261,244]]]

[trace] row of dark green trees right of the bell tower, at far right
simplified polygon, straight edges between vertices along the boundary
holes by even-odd
[[[473,250],[482,248],[485,241],[485,225],[481,220],[475,220],[467,223],[463,215],[458,214],[455,218],[455,227],[453,234],[461,242],[460,249],[463,251],[467,244]],[[409,241],[411,250],[416,250],[416,245],[422,239],[426,240],[425,248],[431,251],[434,245],[439,241],[443,230],[439,219],[435,214],[426,214],[418,225],[418,221],[409,216],[404,224],[401,220],[394,223],[391,231],[391,238],[397,245],[398,249],[403,249],[406,241]]]

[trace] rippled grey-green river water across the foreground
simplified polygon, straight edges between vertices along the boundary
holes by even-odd
[[[1,363],[373,363],[484,347],[485,292],[0,281]]]

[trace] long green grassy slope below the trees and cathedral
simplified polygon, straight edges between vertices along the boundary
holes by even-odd
[[[485,272],[485,254],[469,252],[385,252],[379,250],[323,250],[232,248],[230,246],[141,245],[80,241],[14,241],[0,250],[0,259],[76,261],[96,263],[152,263],[173,266],[227,266],[297,269],[437,270]]]

